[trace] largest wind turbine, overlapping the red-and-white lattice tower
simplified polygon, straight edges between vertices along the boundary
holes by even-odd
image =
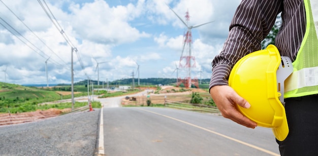
[[[191,67],[193,66],[192,65],[192,63],[191,63],[191,60],[195,60],[195,57],[193,57],[192,56],[192,54],[191,54],[191,44],[192,44],[192,28],[197,28],[197,27],[199,27],[199,26],[202,26],[202,25],[205,25],[205,24],[208,24],[208,23],[211,23],[211,22],[213,22],[213,21],[210,21],[210,22],[207,22],[207,23],[203,23],[203,24],[198,24],[198,25],[194,25],[194,26],[192,26],[192,25],[188,25],[187,23],[185,23],[181,18],[180,18],[180,16],[178,16],[177,15],[177,13],[176,12],[174,12],[173,10],[172,10],[172,8],[168,5],[168,4],[166,4],[169,8],[170,8],[170,10],[181,20],[181,22],[186,26],[186,28],[187,28],[187,32],[186,32],[186,34],[185,34],[185,40],[184,40],[184,42],[183,42],[183,48],[182,48],[182,53],[181,53],[181,57],[180,57],[180,62],[181,62],[181,60],[183,59],[183,58],[185,58],[186,59],[186,65],[185,65],[185,67],[187,67],[188,68],[188,73],[187,73],[187,79],[188,79],[188,86],[187,87],[191,87]],[[186,21],[188,21],[189,20],[189,14],[188,14],[188,12],[186,12]],[[184,47],[185,47],[185,44],[188,44],[188,55],[186,56],[186,57],[182,57],[183,56],[183,51],[184,51]],[[180,63],[180,65],[181,65],[181,63]],[[186,86],[186,85],[185,85]]]

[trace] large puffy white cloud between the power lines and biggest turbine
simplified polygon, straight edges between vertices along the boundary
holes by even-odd
[[[141,5],[141,4],[139,4]],[[139,6],[140,7],[140,6]],[[149,37],[145,32],[131,27],[128,21],[138,17],[140,8],[132,4],[110,8],[105,1],[71,6],[70,15],[74,31],[78,37],[100,44],[123,44],[137,41],[140,37]]]

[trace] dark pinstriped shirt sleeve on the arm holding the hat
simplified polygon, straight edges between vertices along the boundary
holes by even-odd
[[[270,32],[282,1],[243,0],[238,6],[221,52],[212,61],[210,87],[228,85],[234,64],[243,56],[261,49]]]

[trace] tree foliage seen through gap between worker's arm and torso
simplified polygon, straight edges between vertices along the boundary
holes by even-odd
[[[281,16],[280,14],[276,17],[276,21],[274,26],[272,27],[269,34],[264,38],[264,40],[261,43],[262,49],[266,49],[268,45],[275,45],[275,38],[279,31],[279,28],[281,26]]]

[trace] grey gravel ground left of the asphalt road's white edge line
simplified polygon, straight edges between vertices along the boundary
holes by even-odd
[[[0,155],[96,155],[100,109],[0,127]]]

